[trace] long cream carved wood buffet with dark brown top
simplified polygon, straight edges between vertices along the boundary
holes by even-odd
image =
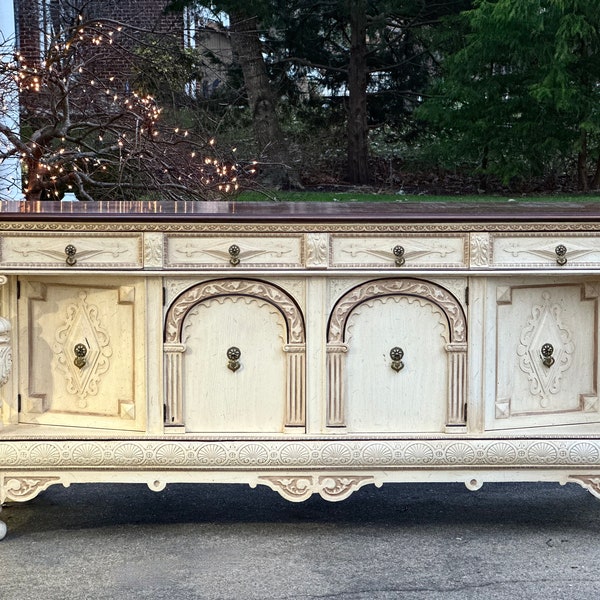
[[[598,204],[0,211],[0,502],[86,482],[600,496]]]

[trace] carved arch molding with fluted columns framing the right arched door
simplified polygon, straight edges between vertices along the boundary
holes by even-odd
[[[444,287],[412,278],[377,279],[344,294],[335,304],[327,328],[327,425],[345,426],[345,356],[347,324],[354,310],[374,298],[409,296],[437,306],[448,322],[448,427],[466,425],[467,318],[456,299]]]

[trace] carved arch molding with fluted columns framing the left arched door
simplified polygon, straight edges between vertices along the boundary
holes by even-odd
[[[171,304],[165,321],[165,425],[184,426],[183,422],[183,323],[198,304],[215,298],[245,296],[266,301],[283,316],[286,325],[286,418],[288,427],[305,425],[306,340],[302,312],[295,300],[281,288],[255,279],[216,279],[197,284],[181,293]]]

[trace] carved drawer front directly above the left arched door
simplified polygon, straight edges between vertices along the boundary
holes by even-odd
[[[165,237],[165,266],[186,268],[287,268],[303,265],[303,236],[172,234]]]

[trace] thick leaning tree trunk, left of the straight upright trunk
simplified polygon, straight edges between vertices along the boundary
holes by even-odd
[[[229,18],[231,45],[242,68],[252,113],[257,160],[262,163],[261,179],[279,189],[297,187],[299,183],[290,167],[287,142],[277,118],[277,102],[262,55],[258,19],[239,12],[230,12]]]

